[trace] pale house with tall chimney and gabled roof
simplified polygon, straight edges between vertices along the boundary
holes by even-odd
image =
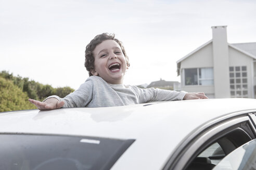
[[[212,26],[212,39],[177,61],[181,89],[209,98],[254,98],[256,43],[227,43],[226,26]]]

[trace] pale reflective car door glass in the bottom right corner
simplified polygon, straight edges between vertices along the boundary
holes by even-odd
[[[213,170],[256,169],[256,139],[229,153]]]

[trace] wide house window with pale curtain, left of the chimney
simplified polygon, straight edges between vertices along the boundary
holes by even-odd
[[[185,73],[185,86],[213,85],[213,68],[186,68]]]

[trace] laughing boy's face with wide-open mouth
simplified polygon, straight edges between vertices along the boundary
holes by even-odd
[[[94,76],[100,76],[111,84],[123,83],[125,71],[127,69],[125,56],[119,44],[114,40],[105,40],[93,51]]]

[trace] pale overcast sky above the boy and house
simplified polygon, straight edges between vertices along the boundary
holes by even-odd
[[[114,33],[129,55],[125,84],[180,81],[176,61],[227,25],[228,43],[256,41],[256,1],[0,0],[0,71],[77,89],[85,46]]]

